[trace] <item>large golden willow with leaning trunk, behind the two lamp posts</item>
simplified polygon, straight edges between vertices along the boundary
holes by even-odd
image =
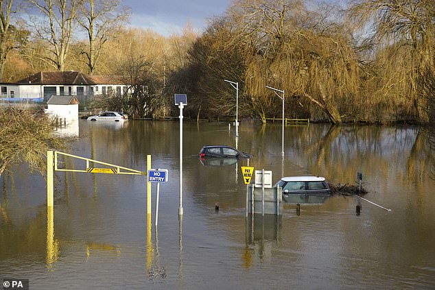
[[[270,85],[342,122],[340,106],[357,94],[360,70],[349,32],[328,11],[309,11],[299,0],[239,0],[228,10],[236,23],[228,49],[248,48],[246,93],[257,104],[268,106]]]

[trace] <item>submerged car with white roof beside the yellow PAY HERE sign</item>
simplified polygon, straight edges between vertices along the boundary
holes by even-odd
[[[291,203],[322,203],[331,195],[328,182],[320,176],[283,177],[275,186],[283,189],[283,200]]]

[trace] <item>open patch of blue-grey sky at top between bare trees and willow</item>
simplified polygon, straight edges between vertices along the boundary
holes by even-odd
[[[179,33],[188,22],[202,31],[207,19],[220,16],[231,0],[124,0],[131,8],[130,25],[150,28],[163,36]]]

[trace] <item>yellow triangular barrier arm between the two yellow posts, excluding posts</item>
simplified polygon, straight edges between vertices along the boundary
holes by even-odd
[[[80,160],[86,160],[86,169],[60,169],[58,168],[58,154],[63,155],[63,156],[69,156],[72,158],[77,158]],[[93,172],[93,170],[89,170],[89,169],[93,169],[91,167],[89,167],[89,162],[93,162],[94,164],[100,164],[100,165],[106,165],[109,167],[115,167],[115,169],[113,168],[108,168],[107,172],[104,171],[104,169],[100,169],[99,171],[95,171]],[[125,170],[125,171],[121,171]],[[118,166],[118,165],[113,165],[107,162],[102,162],[102,161],[98,161],[98,160],[93,160],[91,158],[85,158],[85,157],[81,157],[81,156],[75,156],[73,154],[68,154],[68,153],[64,153],[64,152],[54,152],[54,170],[56,171],[68,171],[68,172],[84,172],[84,173],[116,173],[116,174],[129,174],[129,175],[147,175],[146,172],[143,171],[139,171],[136,169],[130,169],[127,167],[122,167],[122,166]],[[126,172],[127,171],[127,172]]]

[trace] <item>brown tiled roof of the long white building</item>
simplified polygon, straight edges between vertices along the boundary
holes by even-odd
[[[19,80],[16,84],[92,86],[97,84],[124,84],[124,82],[123,77],[119,75],[86,75],[86,73],[78,71],[40,71]]]

